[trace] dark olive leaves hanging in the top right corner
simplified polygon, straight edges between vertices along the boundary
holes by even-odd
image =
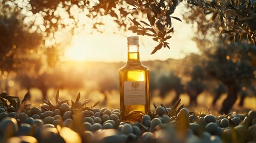
[[[220,18],[222,30],[227,39],[242,41],[248,39],[256,45],[256,2],[246,0],[189,0],[189,4],[202,9],[204,14],[212,14],[211,20]],[[226,40],[227,40],[226,39]]]

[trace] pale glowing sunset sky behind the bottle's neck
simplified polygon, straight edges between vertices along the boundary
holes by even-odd
[[[176,17],[182,19],[181,7],[177,7]],[[155,54],[150,55],[158,42],[149,36],[139,36],[140,38],[140,59],[147,60],[167,60],[168,58],[183,58],[191,52],[198,52],[193,37],[192,26],[183,22],[172,20],[174,33],[169,39],[171,49],[162,48]],[[109,26],[109,27],[108,27]],[[113,29],[113,24],[107,25],[107,29]],[[86,30],[73,36],[72,42],[67,45],[63,60],[75,61],[107,61],[119,62],[127,61],[127,36],[136,36],[127,32],[125,35],[115,35],[112,32],[88,34]]]

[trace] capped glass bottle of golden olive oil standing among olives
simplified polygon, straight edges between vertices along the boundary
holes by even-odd
[[[149,68],[140,62],[138,36],[127,39],[127,64],[119,70],[121,119],[139,122],[150,113]]]

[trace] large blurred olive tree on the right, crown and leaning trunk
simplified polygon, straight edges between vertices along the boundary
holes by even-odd
[[[233,5],[233,2],[236,2],[237,7]],[[197,31],[194,41],[202,52],[202,63],[205,66],[205,71],[210,77],[217,79],[218,83],[222,82],[227,88],[227,98],[223,101],[220,112],[229,113],[238,98],[239,91],[242,90],[241,85],[250,86],[255,81],[255,64],[252,60],[255,55],[255,38],[253,36],[255,33],[248,30],[254,29],[254,26],[245,23],[246,20],[241,20],[242,17],[250,20],[255,18],[252,18],[251,15],[247,17],[246,15],[237,14],[255,13],[255,3],[248,1],[204,2],[193,0],[189,3],[192,5],[187,5],[189,12],[184,13],[184,19],[187,23],[193,24]],[[246,12],[245,5],[248,5],[249,10],[253,11]],[[241,9],[238,10],[238,7]],[[206,16],[207,14],[209,16]],[[217,17],[217,15],[219,16]],[[243,27],[241,27],[242,23],[245,24]],[[229,29],[227,30],[229,32],[224,29]],[[219,31],[221,31],[221,34],[219,34]],[[228,35],[223,33],[228,33]],[[233,34],[236,36],[233,36]],[[245,38],[245,35],[252,35],[252,38]],[[232,42],[234,40],[241,42]],[[212,104],[215,104],[218,97],[224,92],[221,85],[216,90],[216,96]]]

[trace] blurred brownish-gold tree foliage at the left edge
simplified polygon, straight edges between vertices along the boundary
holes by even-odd
[[[0,70],[18,71],[26,69],[25,64],[31,63],[29,69],[35,69],[34,63],[40,65],[38,46],[42,36],[30,33],[22,20],[20,10],[8,4],[0,4]],[[34,55],[32,55],[32,53]]]

